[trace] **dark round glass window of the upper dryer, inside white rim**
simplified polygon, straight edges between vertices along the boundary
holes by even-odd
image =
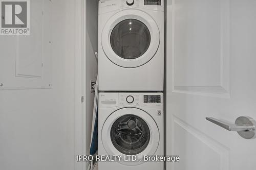
[[[150,31],[137,19],[125,19],[117,23],[110,37],[113,51],[124,59],[142,56],[150,46],[150,42]]]

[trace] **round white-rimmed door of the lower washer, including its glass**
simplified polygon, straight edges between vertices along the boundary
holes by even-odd
[[[154,155],[159,144],[159,130],[154,119],[138,108],[122,108],[113,112],[102,127],[102,143],[109,155],[136,155],[141,161],[120,163],[141,164],[144,155]]]

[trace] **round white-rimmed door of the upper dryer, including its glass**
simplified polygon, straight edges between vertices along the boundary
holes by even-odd
[[[116,65],[141,66],[156,54],[160,33],[154,19],[140,10],[123,10],[113,15],[101,36],[105,55]]]

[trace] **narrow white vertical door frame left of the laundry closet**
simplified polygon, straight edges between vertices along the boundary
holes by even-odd
[[[86,3],[75,0],[75,157],[86,155]],[[86,162],[74,164],[75,170],[86,167]]]

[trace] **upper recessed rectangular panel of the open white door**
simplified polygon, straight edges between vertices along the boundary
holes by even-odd
[[[229,96],[229,0],[173,1],[173,90]]]

